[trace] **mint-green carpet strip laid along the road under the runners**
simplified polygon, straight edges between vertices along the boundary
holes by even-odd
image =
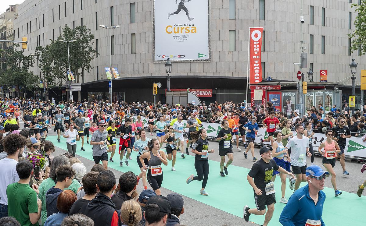
[[[61,137],[61,143],[57,142],[57,136],[48,136],[47,139],[53,142],[55,146],[67,150],[65,138]],[[119,139],[117,139],[117,142],[119,142],[118,140]],[[80,148],[81,141],[78,142],[76,154],[93,161],[91,145],[86,144],[86,139],[84,144],[85,151],[80,151]],[[210,155],[218,154],[209,154],[209,158]],[[108,156],[110,156],[110,153]],[[132,160],[129,161],[130,166],[126,166],[124,163],[123,167],[120,167],[118,150],[116,150],[116,154],[113,157],[114,162],[108,162],[108,167],[121,172],[132,171],[135,174],[139,174],[141,171],[137,165],[136,156],[137,152],[132,151]],[[247,159],[246,161],[251,160]],[[205,191],[209,193],[208,196],[199,194],[202,181],[193,181],[189,185],[186,184],[186,179],[191,174],[196,175],[193,155],[181,159],[180,154],[178,153],[175,164],[176,172],[171,171],[171,161],[168,161],[168,166],[163,165],[164,181],[162,187],[239,217],[243,217],[243,207],[245,205],[248,205],[250,208],[255,208],[253,189],[246,179],[249,169],[231,165],[228,167],[229,175],[220,177],[220,162],[209,160],[209,165],[210,173],[205,189]],[[119,176],[120,175],[116,175],[117,178]],[[330,180],[330,178],[327,178],[327,180]],[[360,183],[362,180],[363,179],[360,178]],[[304,185],[305,183],[301,184],[301,186]],[[357,185],[355,184],[354,187],[356,189]],[[151,189],[150,185],[149,189]],[[281,199],[281,181],[279,177],[276,178],[275,189],[277,191],[277,204],[275,205],[275,213],[270,221],[270,225],[280,226],[279,216],[285,204],[279,202]],[[335,197],[333,189],[325,188],[323,191],[326,193],[323,209],[323,220],[326,225],[358,225],[360,223],[359,217],[362,216],[364,212],[362,206],[365,206],[366,203],[365,196],[360,198],[354,193],[343,192],[342,195]],[[292,191],[287,187],[287,199],[289,199],[291,194]],[[252,214],[250,216],[250,221],[261,225],[264,221],[264,216],[255,216]]]

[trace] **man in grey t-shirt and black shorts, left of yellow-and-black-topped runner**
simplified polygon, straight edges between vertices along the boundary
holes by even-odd
[[[102,161],[105,170],[108,169],[108,152],[107,141],[108,132],[105,130],[105,122],[98,123],[98,130],[96,130],[90,138],[90,145],[93,145],[93,159],[95,165]]]

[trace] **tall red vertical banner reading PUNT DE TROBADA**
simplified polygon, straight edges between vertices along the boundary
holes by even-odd
[[[263,27],[251,27],[250,28],[250,84],[256,84],[262,82],[262,36]]]

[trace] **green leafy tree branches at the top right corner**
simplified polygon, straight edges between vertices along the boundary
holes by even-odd
[[[352,39],[351,52],[359,50],[359,55],[362,56],[366,52],[366,0],[361,0],[360,5],[352,4],[352,7],[356,7],[358,15],[354,21],[355,31],[348,34]]]

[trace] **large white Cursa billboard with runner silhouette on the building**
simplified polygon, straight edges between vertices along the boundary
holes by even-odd
[[[209,0],[154,0],[154,62],[210,61]]]

